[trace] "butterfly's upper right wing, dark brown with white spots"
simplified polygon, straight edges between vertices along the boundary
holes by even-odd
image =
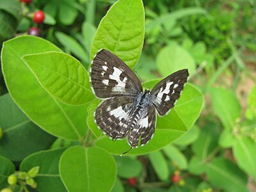
[[[151,92],[152,102],[159,115],[163,116],[173,108],[188,80],[188,76],[188,69],[179,70],[164,78],[153,88]]]

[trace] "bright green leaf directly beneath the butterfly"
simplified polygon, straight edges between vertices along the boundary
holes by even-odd
[[[156,84],[157,82],[159,81],[148,81],[145,83],[145,86],[152,87],[149,85]],[[200,115],[202,106],[202,94],[191,84],[186,84],[175,108],[173,108],[168,115],[163,117],[157,116],[156,131],[152,140],[143,147],[133,148],[127,155],[147,154],[148,152],[159,150],[173,140],[179,138],[195,123],[196,118]],[[90,118],[93,118],[92,113],[93,110],[89,113]],[[93,124],[92,119],[90,122]],[[92,127],[92,125],[89,126]],[[97,125],[94,127],[96,129]],[[130,148],[126,140],[117,140],[113,142],[106,136],[102,136],[95,141],[95,145],[106,148],[110,153],[116,155],[123,154]]]

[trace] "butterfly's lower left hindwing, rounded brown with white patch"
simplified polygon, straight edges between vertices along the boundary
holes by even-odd
[[[131,97],[111,97],[98,106],[95,121],[110,138],[125,138],[129,132],[128,122],[133,108],[134,99]]]

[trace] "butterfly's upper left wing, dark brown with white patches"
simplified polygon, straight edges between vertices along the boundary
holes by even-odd
[[[105,49],[95,55],[90,70],[92,89],[99,98],[134,96],[142,92],[140,80],[131,68]]]

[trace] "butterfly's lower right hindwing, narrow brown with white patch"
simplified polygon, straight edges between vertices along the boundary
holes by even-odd
[[[156,108],[150,105],[128,134],[128,143],[131,147],[146,145],[153,137],[156,127]]]

